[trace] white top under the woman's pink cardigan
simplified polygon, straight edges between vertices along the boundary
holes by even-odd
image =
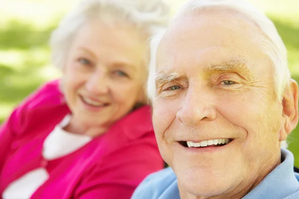
[[[70,122],[71,115],[66,115],[55,126],[43,143],[42,156],[46,160],[53,160],[70,154],[92,140],[92,137],[74,134],[63,130]],[[29,199],[32,194],[48,180],[46,169],[34,169],[10,183],[2,194],[3,199]]]

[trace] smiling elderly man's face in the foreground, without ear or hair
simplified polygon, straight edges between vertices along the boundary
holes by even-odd
[[[153,125],[181,195],[238,198],[280,163],[283,106],[261,41],[253,22],[220,9],[181,17],[164,35]]]

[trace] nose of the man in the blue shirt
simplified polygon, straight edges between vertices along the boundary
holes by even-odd
[[[212,121],[217,116],[214,101],[211,91],[188,90],[176,117],[186,125],[194,125],[202,120]]]

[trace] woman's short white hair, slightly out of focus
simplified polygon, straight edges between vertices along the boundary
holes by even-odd
[[[168,7],[161,0],[82,0],[52,32],[50,46],[54,66],[62,68],[76,32],[83,24],[98,18],[113,24],[134,25],[150,37],[168,23]]]

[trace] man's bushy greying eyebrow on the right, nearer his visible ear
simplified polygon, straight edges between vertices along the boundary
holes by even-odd
[[[213,64],[210,63],[206,69],[208,72],[214,72],[214,71],[245,71],[249,72],[250,70],[248,68],[248,62],[243,57],[236,57],[233,59],[230,59],[228,61],[224,61],[221,64]]]

